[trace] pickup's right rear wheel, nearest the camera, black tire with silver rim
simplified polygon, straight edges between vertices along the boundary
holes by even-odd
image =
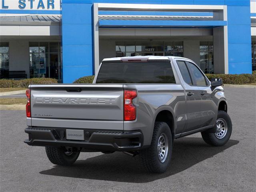
[[[161,142],[162,145],[160,145]],[[158,150],[162,152],[165,150],[165,153],[158,153]],[[172,157],[172,133],[168,124],[155,122],[151,145],[142,150],[139,155],[143,166],[149,172],[163,173],[166,171]]]

